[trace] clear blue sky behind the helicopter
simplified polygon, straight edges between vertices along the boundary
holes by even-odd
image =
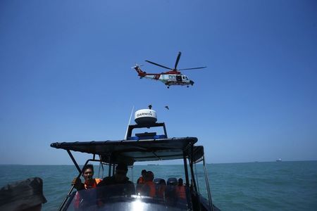
[[[317,160],[316,1],[5,0],[0,46],[0,164],[70,164],[50,143],[123,139],[149,103],[207,162]],[[194,87],[131,69],[178,51]]]

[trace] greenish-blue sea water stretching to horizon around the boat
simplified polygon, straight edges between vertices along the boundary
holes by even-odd
[[[0,186],[29,177],[42,178],[47,200],[43,210],[58,209],[78,174],[73,165],[0,167]],[[136,165],[129,169],[128,177],[137,181],[143,169],[158,178],[182,177],[185,181],[182,165]],[[317,161],[208,164],[206,169],[213,203],[220,210],[317,210]],[[94,171],[97,177],[98,166]],[[196,165],[194,172],[200,193],[208,198],[203,166]]]

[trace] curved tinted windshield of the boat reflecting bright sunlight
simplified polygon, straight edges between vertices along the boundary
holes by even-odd
[[[116,184],[75,191],[66,210],[188,210],[189,192],[185,186],[154,185],[154,188]]]

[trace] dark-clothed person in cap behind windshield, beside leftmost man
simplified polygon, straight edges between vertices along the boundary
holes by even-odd
[[[97,187],[112,186],[111,195],[133,195],[135,194],[135,185],[127,177],[128,165],[120,163],[116,167],[116,172],[112,177],[105,177]],[[99,191],[100,192],[100,191]],[[108,193],[106,193],[108,194]]]

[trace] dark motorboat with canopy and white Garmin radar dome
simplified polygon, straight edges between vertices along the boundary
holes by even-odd
[[[127,188],[122,187],[124,185],[102,186],[81,191],[76,191],[72,186],[58,210],[219,210],[212,202],[204,146],[196,145],[197,137],[168,137],[165,123],[156,122],[156,111],[151,107],[135,112],[135,122],[137,124],[128,125],[123,140],[56,142],[51,143],[51,147],[67,151],[77,168],[77,178],[80,178],[85,165],[92,162],[98,162],[99,169],[102,170],[106,170],[108,167],[108,177],[111,177],[115,172],[115,167],[123,162],[129,167],[133,167],[135,163],[148,161],[182,160],[185,198],[178,198],[172,182],[167,183],[166,186],[165,184],[155,184],[156,190],[165,188],[163,197],[145,196],[137,191],[130,194],[113,194],[119,189],[126,190]],[[140,129],[161,129],[163,134],[158,135],[157,132],[133,134],[135,130]],[[89,153],[92,158],[88,159],[84,167],[80,168],[72,152]],[[198,162],[202,162],[204,167],[207,197],[200,193],[197,175],[194,174],[194,166]],[[173,178],[170,179],[173,180]],[[81,196],[80,205],[76,203],[77,197],[75,196],[78,194]]]

